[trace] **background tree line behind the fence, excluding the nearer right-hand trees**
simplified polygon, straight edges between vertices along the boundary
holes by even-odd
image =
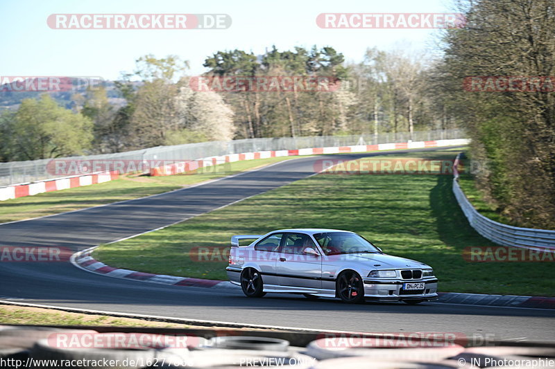
[[[145,55],[134,73],[71,96],[61,107],[48,94],[0,116],[0,160],[103,154],[158,145],[239,138],[378,134],[456,127],[423,93],[427,64],[408,53],[367,51],[348,64],[334,48],[296,47],[263,55],[218,51],[206,77],[325,79],[330,89],[198,91],[179,57]],[[113,93],[111,93],[113,94]],[[113,99],[112,99],[113,100]],[[61,134],[60,132],[63,132]]]

